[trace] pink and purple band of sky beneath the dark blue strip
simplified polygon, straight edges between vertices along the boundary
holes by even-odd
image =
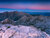
[[[0,8],[50,10],[49,4],[0,4]]]

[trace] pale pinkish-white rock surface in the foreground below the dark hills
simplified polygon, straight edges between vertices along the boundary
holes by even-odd
[[[50,38],[48,34],[33,26],[1,24],[0,38]]]

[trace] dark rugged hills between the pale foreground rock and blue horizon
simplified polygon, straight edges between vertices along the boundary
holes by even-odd
[[[0,13],[1,24],[13,24],[13,25],[27,25],[34,26],[42,31],[50,34],[50,16],[43,15],[31,15],[24,12],[4,12]]]

